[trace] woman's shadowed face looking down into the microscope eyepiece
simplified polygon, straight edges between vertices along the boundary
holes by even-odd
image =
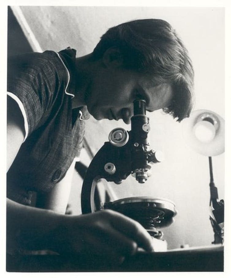
[[[86,105],[97,120],[123,119],[129,124],[135,99],[146,100],[146,110],[150,112],[168,107],[172,99],[171,86],[155,86],[149,75],[116,68],[101,70],[94,77]]]

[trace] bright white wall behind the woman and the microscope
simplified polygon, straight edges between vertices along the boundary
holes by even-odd
[[[168,21],[180,34],[194,65],[195,109],[209,109],[225,116],[224,9],[22,6],[21,10],[43,50],[59,51],[71,46],[77,49],[78,56],[91,52],[108,28],[123,21],[150,17]],[[153,175],[145,185],[128,178],[122,185],[113,186],[115,193],[118,198],[148,195],[176,203],[176,221],[164,230],[170,249],[181,244],[209,245],[213,232],[208,217],[208,158],[194,153],[184,144],[182,124],[174,122],[169,115],[154,112],[150,114],[150,124],[151,147],[164,151],[165,162],[153,166]],[[92,126],[97,127],[98,139],[93,146],[97,150],[118,123],[91,119],[88,127]],[[119,126],[130,129],[122,122]],[[91,135],[89,129],[86,133]],[[214,157],[213,165],[221,199],[224,198],[224,154]],[[80,188],[78,185],[72,195],[74,204],[80,196]]]

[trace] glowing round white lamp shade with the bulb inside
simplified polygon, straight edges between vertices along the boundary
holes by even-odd
[[[199,154],[222,154],[225,151],[225,120],[213,111],[195,110],[183,120],[183,137]]]

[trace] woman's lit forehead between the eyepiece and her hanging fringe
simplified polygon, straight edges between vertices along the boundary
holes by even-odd
[[[154,111],[168,107],[171,103],[173,90],[172,86],[163,82],[156,85],[156,81],[152,76],[140,76],[137,78],[138,90],[142,91],[148,97],[147,110]]]

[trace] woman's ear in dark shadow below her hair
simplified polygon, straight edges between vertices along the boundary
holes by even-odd
[[[123,55],[118,48],[108,48],[103,55],[103,63],[108,68],[118,68],[123,66]]]

